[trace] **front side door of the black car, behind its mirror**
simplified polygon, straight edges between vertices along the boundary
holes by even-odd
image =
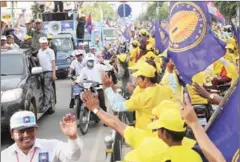
[[[33,60],[33,57],[29,57],[30,65],[33,67],[37,67],[36,62]],[[31,72],[31,71],[30,71]],[[40,106],[43,102],[43,83],[41,74],[31,75],[31,85],[30,85],[33,96],[36,101],[37,110],[39,111]]]

